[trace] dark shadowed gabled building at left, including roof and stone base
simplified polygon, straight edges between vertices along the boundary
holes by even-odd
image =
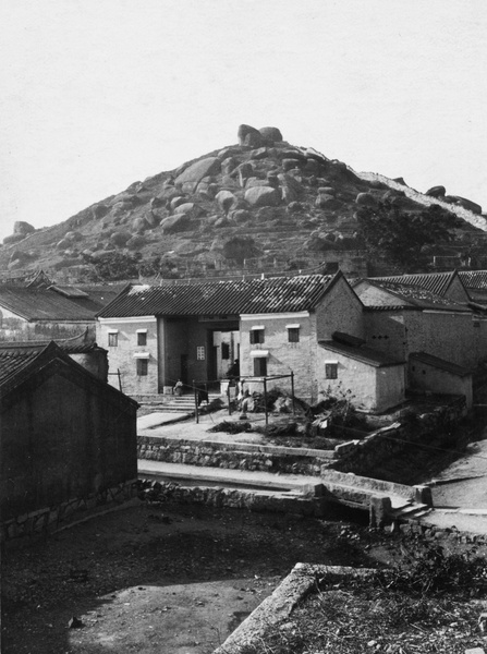
[[[3,537],[35,531],[39,516],[46,526],[62,520],[68,509],[87,510],[115,496],[126,499],[137,477],[137,407],[53,341],[3,347]]]

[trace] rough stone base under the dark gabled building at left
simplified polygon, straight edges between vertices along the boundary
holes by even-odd
[[[130,480],[112,488],[92,493],[87,497],[73,498],[56,507],[46,507],[17,516],[1,523],[0,540],[2,543],[8,543],[53,533],[70,523],[120,506],[137,497],[137,480]]]

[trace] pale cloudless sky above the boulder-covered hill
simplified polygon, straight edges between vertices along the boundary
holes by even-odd
[[[486,0],[2,0],[0,240],[277,126],[487,211]]]

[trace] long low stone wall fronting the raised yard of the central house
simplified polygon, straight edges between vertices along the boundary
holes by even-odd
[[[186,465],[319,475],[324,463],[333,460],[334,452],[332,450],[137,436],[137,457],[167,463],[185,463]]]

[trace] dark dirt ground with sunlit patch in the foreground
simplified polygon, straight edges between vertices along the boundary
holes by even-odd
[[[296,561],[395,556],[391,536],[339,520],[141,504],[3,554],[2,652],[207,654]]]

